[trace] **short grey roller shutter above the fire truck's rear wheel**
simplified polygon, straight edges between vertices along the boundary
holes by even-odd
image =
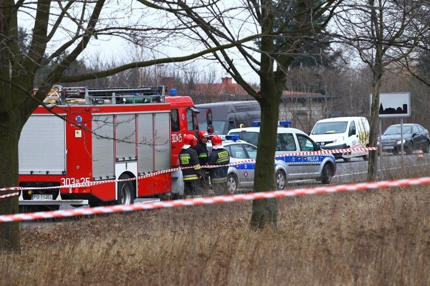
[[[118,114],[116,125],[117,161],[136,160],[136,115]]]

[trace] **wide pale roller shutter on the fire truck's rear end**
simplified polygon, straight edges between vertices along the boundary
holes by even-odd
[[[18,144],[20,174],[66,171],[65,121],[56,115],[31,115]]]

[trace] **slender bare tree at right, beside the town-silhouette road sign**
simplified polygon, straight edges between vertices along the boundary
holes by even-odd
[[[337,37],[350,45],[372,73],[369,146],[377,147],[379,95],[385,67],[407,57],[427,27],[417,23],[422,1],[349,1],[336,17]],[[420,29],[408,29],[420,27]],[[367,180],[377,179],[377,152],[370,152]]]

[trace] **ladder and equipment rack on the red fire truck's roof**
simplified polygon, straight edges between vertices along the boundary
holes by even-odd
[[[60,94],[59,104],[125,104],[165,102],[167,88],[95,88],[56,86]]]

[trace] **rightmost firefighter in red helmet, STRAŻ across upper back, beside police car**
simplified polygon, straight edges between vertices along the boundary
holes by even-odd
[[[217,193],[227,193],[227,174],[230,164],[230,154],[223,147],[223,140],[220,136],[215,135],[212,137],[212,151],[209,155],[209,165],[220,165],[222,167],[212,168],[210,171],[210,179],[212,182],[213,190]]]

